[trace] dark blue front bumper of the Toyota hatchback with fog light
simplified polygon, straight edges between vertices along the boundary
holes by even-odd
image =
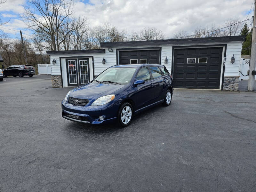
[[[115,105],[102,106],[76,106],[61,102],[62,117],[71,121],[87,124],[103,124],[116,120],[117,109]],[[100,121],[99,116],[103,116],[104,120]]]

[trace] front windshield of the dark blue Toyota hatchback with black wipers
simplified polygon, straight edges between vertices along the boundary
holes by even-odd
[[[93,83],[106,83],[106,84],[128,84],[136,68],[108,68],[97,76]]]

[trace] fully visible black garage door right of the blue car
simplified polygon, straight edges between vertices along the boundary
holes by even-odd
[[[219,89],[222,47],[175,49],[175,88]]]

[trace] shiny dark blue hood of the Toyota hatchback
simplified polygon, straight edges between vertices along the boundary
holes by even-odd
[[[79,99],[95,100],[105,95],[114,94],[124,86],[119,84],[89,83],[75,88],[70,92],[69,96]]]

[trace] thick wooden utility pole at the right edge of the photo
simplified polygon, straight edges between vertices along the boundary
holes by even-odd
[[[249,66],[249,80],[248,80],[248,91],[253,91],[255,75],[252,75],[252,71],[255,70],[256,66],[256,0],[254,0],[254,13],[252,22],[252,50],[251,60]]]

